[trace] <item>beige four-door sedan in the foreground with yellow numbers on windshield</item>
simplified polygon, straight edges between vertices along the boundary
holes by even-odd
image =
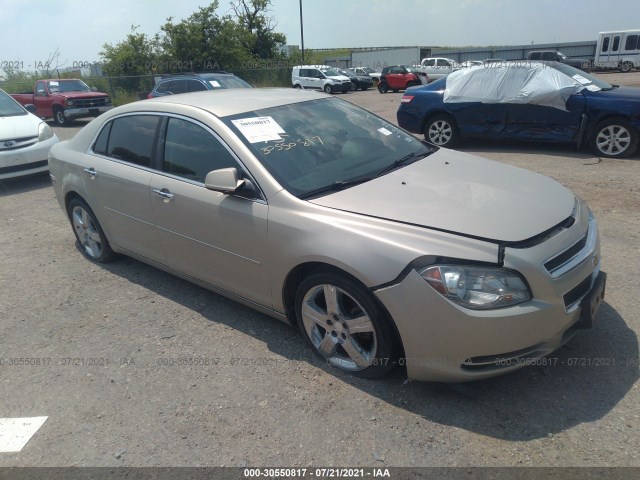
[[[131,103],[49,162],[86,257],[129,255],[298,325],[362,377],[512,371],[604,297],[596,221],[569,190],[329,95]]]

